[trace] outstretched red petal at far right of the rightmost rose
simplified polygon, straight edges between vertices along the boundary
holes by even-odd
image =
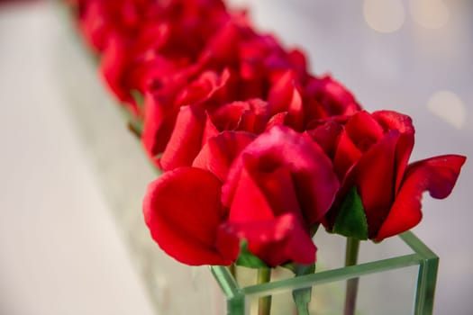
[[[423,192],[429,191],[433,198],[446,198],[457,182],[465,160],[466,157],[447,155],[409,165],[396,201],[375,239],[388,238],[417,225],[422,219]]]

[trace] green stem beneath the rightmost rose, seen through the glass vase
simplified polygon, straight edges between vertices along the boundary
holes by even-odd
[[[345,251],[345,266],[354,266],[358,261],[359,238],[347,238],[347,247]],[[345,295],[344,315],[353,315],[356,310],[359,278],[353,278],[347,281],[347,291]]]

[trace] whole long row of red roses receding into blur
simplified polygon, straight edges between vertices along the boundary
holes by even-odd
[[[421,220],[424,191],[451,192],[465,162],[408,164],[409,117],[363,111],[330,76],[309,74],[301,51],[220,0],[68,1],[165,172],[143,211],[183,263],[229,265],[244,240],[268,266],[313,264],[321,223],[359,239],[396,235]]]

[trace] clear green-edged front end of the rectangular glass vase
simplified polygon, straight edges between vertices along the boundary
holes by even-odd
[[[312,288],[310,314],[343,314],[345,285],[355,278],[359,291],[354,314],[432,314],[439,257],[410,231],[396,238],[381,244],[362,242],[362,260],[356,266],[332,268],[327,263],[330,259],[323,261],[319,253],[314,274],[294,277],[289,271],[273,269],[266,284],[252,284],[256,271],[248,268],[237,268],[238,280],[225,266],[210,268],[225,295],[229,315],[258,314],[259,298],[267,296],[272,301],[271,314],[297,314],[292,293],[304,288]],[[326,252],[333,253],[335,248]],[[332,258],[342,263],[343,257],[336,256]]]

